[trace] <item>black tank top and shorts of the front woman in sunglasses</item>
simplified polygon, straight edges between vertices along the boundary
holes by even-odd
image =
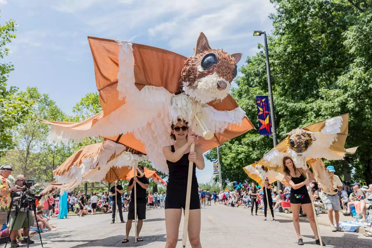
[[[174,152],[174,146],[171,146]],[[189,154],[183,154],[177,162],[167,160],[169,179],[167,184],[167,196],[164,209],[185,209],[186,208],[186,190],[187,175],[189,173]],[[190,210],[200,209],[198,180],[196,179],[196,165],[193,164],[192,184],[190,196]]]

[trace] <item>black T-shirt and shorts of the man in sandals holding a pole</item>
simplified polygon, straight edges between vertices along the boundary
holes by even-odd
[[[148,184],[148,178],[137,177],[137,180],[143,184]],[[133,184],[133,178],[129,181],[128,186]],[[139,220],[146,219],[146,189],[142,188],[140,184],[136,184],[136,194],[137,194],[137,217]],[[129,202],[129,209],[128,209],[128,220],[134,220],[134,188],[132,189],[131,194],[131,202]]]

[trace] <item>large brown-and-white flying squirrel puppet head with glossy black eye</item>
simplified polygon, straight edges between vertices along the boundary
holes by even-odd
[[[182,69],[183,91],[201,103],[224,99],[237,75],[237,63],[242,54],[212,49],[203,33],[200,33],[194,50],[195,55],[187,58]]]

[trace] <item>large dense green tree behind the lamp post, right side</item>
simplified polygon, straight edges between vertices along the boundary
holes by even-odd
[[[322,119],[349,113],[346,147],[359,146],[336,165],[344,179],[372,182],[371,148],[371,1],[272,0],[276,13],[269,37],[275,118],[279,141],[284,133]],[[267,94],[262,45],[240,68],[243,76],[232,96],[256,123],[257,95]],[[222,178],[243,181],[242,167],[259,160],[272,148],[272,138],[251,130],[225,143],[220,150]],[[214,160],[217,156],[209,153]]]

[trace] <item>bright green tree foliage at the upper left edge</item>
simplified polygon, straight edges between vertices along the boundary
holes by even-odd
[[[0,59],[4,59],[9,53],[6,44],[9,44],[15,35],[15,21],[5,22],[0,25]],[[11,129],[17,123],[23,122],[33,104],[32,100],[20,96],[18,88],[7,88],[9,73],[13,71],[13,65],[0,62],[0,157],[7,149],[14,146]]]

